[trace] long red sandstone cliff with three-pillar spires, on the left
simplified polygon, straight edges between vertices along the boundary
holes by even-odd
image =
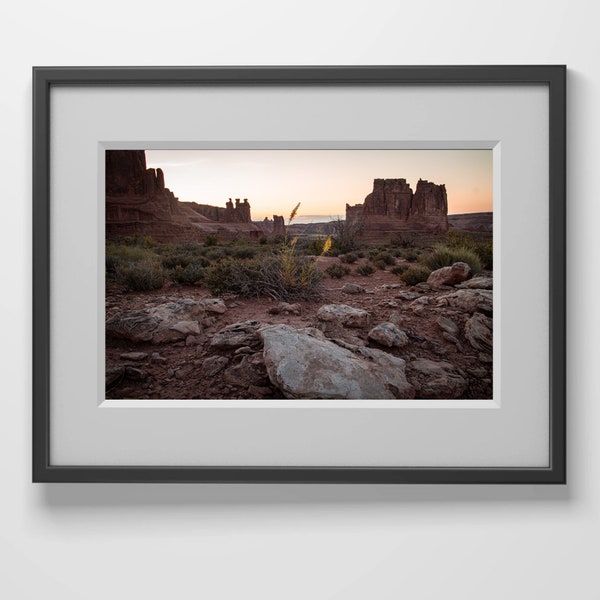
[[[272,227],[252,222],[246,198],[229,198],[225,207],[180,202],[165,187],[162,169],[148,169],[144,150],[106,151],[106,238],[133,234],[156,241],[202,241],[208,235],[221,239],[277,235],[283,217]]]

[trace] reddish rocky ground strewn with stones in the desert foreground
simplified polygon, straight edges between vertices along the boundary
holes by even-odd
[[[293,304],[110,287],[106,397],[491,398],[492,274],[458,265],[414,287],[325,276]]]

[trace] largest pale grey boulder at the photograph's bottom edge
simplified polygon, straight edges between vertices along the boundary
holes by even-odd
[[[401,358],[362,348],[354,353],[314,330],[271,325],[260,330],[269,379],[286,398],[411,398]]]

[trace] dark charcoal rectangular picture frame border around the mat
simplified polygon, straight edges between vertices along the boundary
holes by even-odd
[[[542,85],[549,97],[549,456],[544,468],[57,466],[50,462],[50,91],[53,86]],[[566,482],[566,67],[35,67],[33,481],[347,484]]]

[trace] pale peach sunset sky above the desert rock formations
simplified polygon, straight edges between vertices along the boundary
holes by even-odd
[[[445,184],[449,214],[492,210],[491,150],[146,150],[182,201],[225,206],[248,198],[255,220],[283,215],[343,217],[374,179]]]

